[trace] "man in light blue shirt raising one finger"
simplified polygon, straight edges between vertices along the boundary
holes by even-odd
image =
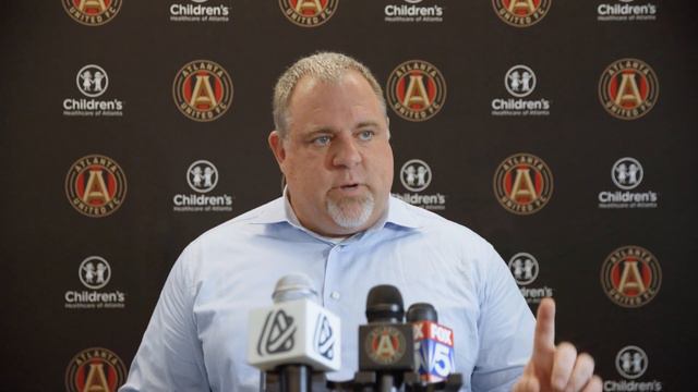
[[[268,143],[284,197],[186,247],[121,391],[256,390],[258,372],[244,359],[248,313],[268,305],[291,272],[308,274],[342,321],[342,370],[332,379],[352,378],[365,295],[388,283],[408,305],[435,305],[454,329],[467,390],[601,391],[589,355],[554,345],[552,301],[534,324],[490,244],[389,196],[386,107],[365,66],[338,53],[301,59],[276,85],[274,119]]]

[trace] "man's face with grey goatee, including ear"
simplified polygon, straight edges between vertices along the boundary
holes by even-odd
[[[300,222],[326,236],[357,233],[385,212],[393,184],[387,119],[353,71],[336,83],[302,78],[289,102],[288,134],[269,135]]]

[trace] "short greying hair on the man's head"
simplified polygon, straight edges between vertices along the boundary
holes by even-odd
[[[381,88],[381,85],[378,85],[378,82],[376,82],[375,77],[365,65],[342,53],[317,52],[315,54],[304,57],[293,63],[293,65],[289,66],[276,82],[276,86],[274,86],[274,100],[272,102],[274,125],[280,136],[285,138],[288,135],[288,126],[290,122],[288,106],[291,94],[301,78],[309,76],[322,82],[336,83],[349,71],[360,73],[366,82],[369,82],[373,93],[381,102],[383,111],[386,112],[383,88]]]

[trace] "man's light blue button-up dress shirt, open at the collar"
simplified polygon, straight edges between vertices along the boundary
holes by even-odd
[[[371,287],[393,284],[405,307],[431,303],[454,330],[465,391],[510,391],[532,350],[534,319],[505,262],[467,228],[390,197],[373,228],[340,243],[296,219],[285,197],[192,242],[165,283],[121,392],[257,391],[246,364],[248,314],[277,280],[309,275],[341,319],[342,369],[358,367],[358,328]]]

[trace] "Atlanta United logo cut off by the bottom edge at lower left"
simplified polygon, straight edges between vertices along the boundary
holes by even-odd
[[[80,352],[65,370],[69,392],[117,392],[127,379],[127,367],[119,356],[107,348],[93,347]]]

